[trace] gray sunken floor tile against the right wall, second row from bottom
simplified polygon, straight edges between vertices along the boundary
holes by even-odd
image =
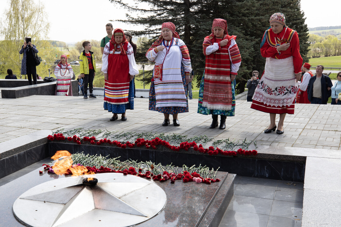
[[[270,215],[302,219],[302,207],[303,204],[301,202],[273,200]]]

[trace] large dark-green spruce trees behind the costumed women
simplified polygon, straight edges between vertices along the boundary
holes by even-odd
[[[136,60],[146,60],[145,53],[160,35],[161,24],[173,22],[190,51],[197,81],[201,80],[205,69],[202,43],[204,37],[211,33],[214,18],[227,20],[228,33],[237,36],[236,42],[242,57],[236,78],[239,92],[244,91],[253,70],[264,70],[265,58],[261,56],[260,43],[273,13],[283,13],[288,27],[298,32],[300,53],[303,61],[308,62],[308,27],[300,9],[300,0],[137,0],[138,3],[147,3],[150,6],[147,9],[138,7],[137,3],[131,5],[123,0],[110,1],[130,11],[127,14],[128,19],[113,21],[143,25],[143,30],[131,31],[133,35],[152,37],[142,42],[137,50]],[[151,72],[147,72],[146,82],[150,82],[150,79]]]

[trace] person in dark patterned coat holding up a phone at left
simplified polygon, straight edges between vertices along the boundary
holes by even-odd
[[[35,54],[38,53],[35,45],[31,43],[31,37],[25,37],[24,45],[19,54],[24,54],[21,60],[21,75],[27,75],[29,85],[37,84]]]

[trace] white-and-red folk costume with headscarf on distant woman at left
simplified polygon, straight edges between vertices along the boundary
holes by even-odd
[[[71,65],[67,61],[66,55],[60,56],[60,59],[64,57],[66,59],[65,64],[60,60],[55,67],[55,76],[57,78],[55,95],[72,96],[72,84],[71,79],[73,77],[73,70]]]

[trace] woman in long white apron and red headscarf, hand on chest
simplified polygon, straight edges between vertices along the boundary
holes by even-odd
[[[187,88],[191,59],[187,46],[180,40],[172,22],[162,24],[161,35],[148,49],[146,57],[155,62],[149,90],[149,110],[164,115],[163,126],[179,126],[178,113],[188,112]]]

